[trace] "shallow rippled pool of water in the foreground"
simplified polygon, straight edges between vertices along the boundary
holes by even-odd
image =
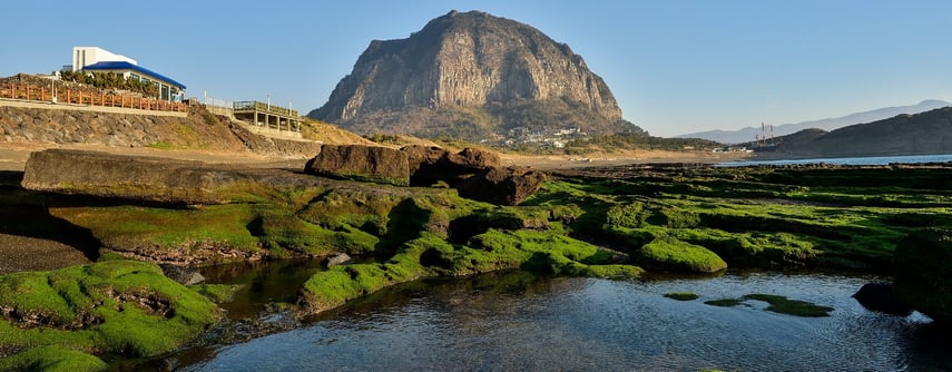
[[[193,371],[893,371],[950,370],[929,319],[863,309],[871,277],[727,274],[606,281],[526,273],[425,281],[383,291],[308,325],[222,347]],[[694,292],[679,302],[670,292]],[[835,310],[828,317],[716,307],[768,293]]]

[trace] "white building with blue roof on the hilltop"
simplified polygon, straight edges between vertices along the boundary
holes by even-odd
[[[185,85],[169,77],[149,70],[129,57],[116,55],[99,47],[72,47],[72,66],[63,67],[73,72],[89,74],[114,72],[126,79],[153,84],[159,99],[180,101],[185,98]]]

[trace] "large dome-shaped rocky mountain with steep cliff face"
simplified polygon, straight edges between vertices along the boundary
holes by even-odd
[[[308,116],[364,135],[644,133],[568,45],[479,11],[451,11],[406,39],[371,41]]]

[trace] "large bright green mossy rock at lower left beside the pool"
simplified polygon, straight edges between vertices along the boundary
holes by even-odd
[[[125,260],[0,276],[0,350],[56,345],[134,356],[174,351],[222,315],[157,265]]]

